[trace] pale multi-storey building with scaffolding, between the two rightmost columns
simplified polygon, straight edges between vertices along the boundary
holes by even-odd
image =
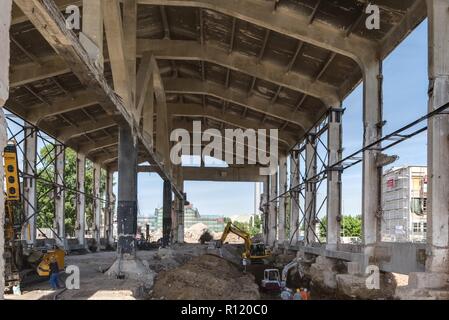
[[[427,168],[387,171],[382,181],[382,241],[423,242],[427,232]]]

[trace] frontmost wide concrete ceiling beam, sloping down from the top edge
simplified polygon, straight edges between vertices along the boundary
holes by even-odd
[[[140,4],[199,7],[237,17],[260,27],[313,44],[347,56],[359,64],[375,51],[376,44],[344,30],[329,27],[323,22],[309,23],[309,17],[295,13],[287,7],[273,11],[273,4],[261,0],[221,1],[215,0],[139,0]]]

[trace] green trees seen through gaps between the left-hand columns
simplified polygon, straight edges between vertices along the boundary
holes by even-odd
[[[40,152],[42,164],[39,166],[37,173],[39,179],[37,179],[37,210],[39,212],[37,216],[37,226],[39,228],[53,228],[55,221],[55,187],[53,182],[55,181],[55,167],[54,158],[55,152],[51,146],[43,147]],[[75,221],[76,221],[76,198],[77,189],[76,185],[76,153],[71,149],[65,151],[65,167],[64,167],[64,185],[65,190],[65,228],[68,235],[74,235],[75,233]],[[106,188],[104,175],[101,178],[101,191],[104,192]],[[92,163],[86,161],[86,177],[85,177],[85,212],[87,225],[92,224],[93,221],[93,169]]]

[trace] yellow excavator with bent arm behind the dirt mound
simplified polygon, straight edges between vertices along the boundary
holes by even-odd
[[[221,239],[217,243],[217,247],[221,247],[225,243],[226,238],[230,233],[234,233],[245,241],[245,251],[242,258],[251,261],[252,263],[260,263],[262,259],[271,256],[271,252],[265,248],[264,243],[253,243],[248,232],[240,229],[231,221],[228,222],[224,228]]]

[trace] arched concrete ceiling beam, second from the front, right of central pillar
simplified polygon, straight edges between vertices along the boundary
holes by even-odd
[[[285,67],[269,62],[259,62],[257,58],[227,51],[213,44],[198,45],[196,41],[139,40],[138,54],[151,50],[157,59],[208,61],[243,72],[291,90],[300,91],[322,99],[325,104],[338,101],[337,88],[310,77],[286,72]]]

